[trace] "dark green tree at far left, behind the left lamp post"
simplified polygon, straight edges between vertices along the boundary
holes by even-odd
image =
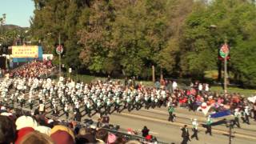
[[[31,18],[31,30],[34,39],[41,42],[44,51],[55,53],[58,45],[58,34],[61,34],[64,54],[62,55],[66,66],[71,66],[73,70],[81,68],[78,55],[81,45],[78,44],[78,19],[81,10],[86,9],[86,4],[82,0],[34,0],[34,18]]]

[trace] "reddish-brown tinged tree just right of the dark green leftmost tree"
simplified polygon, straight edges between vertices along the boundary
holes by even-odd
[[[113,7],[108,1],[95,1],[91,3],[90,12],[86,13],[85,27],[79,31],[80,43],[83,45],[80,57],[82,63],[94,72],[111,73],[114,68],[114,60],[111,58],[110,50],[113,48],[111,42],[111,22],[114,21]]]

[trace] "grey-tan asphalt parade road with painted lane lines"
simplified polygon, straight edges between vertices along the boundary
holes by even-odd
[[[36,101],[38,102],[38,101]],[[49,107],[50,104],[48,103],[46,107]],[[35,107],[35,106],[34,106]],[[28,103],[26,103],[26,108],[29,108]],[[50,112],[50,109],[47,109]],[[82,110],[82,109],[81,109]],[[163,108],[156,108],[154,110],[133,110],[131,113],[127,112],[126,110],[122,111],[121,114],[113,113],[110,114],[110,123],[119,125],[121,131],[126,132],[128,128],[132,128],[133,130],[137,130],[140,132],[143,126],[147,126],[150,129],[150,134],[156,136],[158,141],[166,142],[166,143],[180,143],[182,142],[182,131],[180,127],[184,124],[191,124],[190,118],[198,118],[199,123],[204,123],[206,118],[202,113],[199,112],[189,112],[185,109],[176,109],[176,115],[178,118],[176,122],[167,122],[166,119],[168,118],[168,113],[165,107]],[[82,114],[84,112],[82,111]],[[60,111],[59,114],[60,118],[65,118],[63,111]],[[84,116],[82,118],[88,118]],[[92,117],[94,121],[97,121],[98,114],[94,114]],[[242,136],[235,136],[232,138],[232,143],[235,144],[255,144],[256,143],[256,125],[255,122],[252,122],[250,126],[246,124],[241,124],[242,129],[234,128],[238,134],[242,134]],[[192,139],[189,143],[203,143],[203,144],[226,144],[229,143],[229,137],[223,133],[227,133],[228,128],[226,126],[216,126],[216,129],[213,130],[213,136],[209,134],[205,134],[205,129],[202,127],[199,128],[198,138],[199,141]],[[190,129],[190,135],[192,135],[192,130]],[[246,138],[248,136],[249,138]]]

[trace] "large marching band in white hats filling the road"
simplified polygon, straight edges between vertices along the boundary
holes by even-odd
[[[9,85],[7,86],[6,83]],[[67,117],[70,110],[81,113],[82,109],[91,116],[93,110],[100,114],[110,114],[111,109],[120,113],[122,109],[130,111],[139,110],[143,106],[149,109],[155,106],[170,105],[166,90],[128,89],[111,81],[84,84],[68,82],[64,78],[60,78],[57,82],[50,78],[14,78],[4,80],[1,86],[5,87],[2,90],[2,97],[12,102],[13,105],[14,101],[17,101],[20,106],[25,106],[27,102],[31,110],[41,106],[39,109],[42,111],[44,110],[42,107],[50,102],[53,114],[58,114],[59,110],[63,110]],[[26,101],[26,94],[28,94],[28,101]]]

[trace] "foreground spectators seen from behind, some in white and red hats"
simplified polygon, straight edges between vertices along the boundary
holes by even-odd
[[[80,125],[74,121],[46,118],[0,106],[0,143],[4,144],[82,144],[82,143],[154,143],[148,135],[143,141],[130,139],[108,131],[109,126],[97,127],[88,121]]]

